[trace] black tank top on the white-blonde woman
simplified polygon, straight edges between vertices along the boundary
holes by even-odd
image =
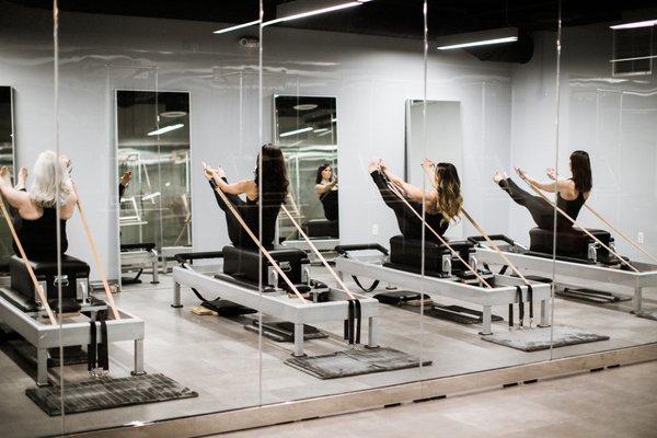
[[[54,207],[44,208],[41,218],[23,219],[18,214],[14,216],[14,228],[23,244],[27,258],[34,261],[54,261],[57,258],[57,210]],[[59,220],[61,232],[61,254],[68,250],[66,237],[66,220]],[[14,252],[20,255],[16,243],[13,242]]]

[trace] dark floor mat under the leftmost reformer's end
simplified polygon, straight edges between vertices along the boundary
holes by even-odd
[[[25,394],[49,416],[61,415],[60,387],[28,389],[25,390]],[[198,393],[180,385],[164,374],[131,376],[119,379],[103,377],[67,383],[64,391],[64,410],[66,415],[69,415],[196,396]]]

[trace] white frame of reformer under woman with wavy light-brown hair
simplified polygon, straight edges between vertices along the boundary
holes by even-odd
[[[381,255],[385,255],[380,245],[345,245],[343,249],[349,251],[361,250],[378,250]],[[406,270],[395,269],[382,265],[381,257],[366,257],[366,260],[350,258],[345,254],[341,254],[335,258],[335,268],[341,276],[351,275],[355,277],[365,277],[373,280],[389,283],[391,285],[411,289],[417,292],[423,292],[429,296],[433,300],[439,298],[451,298],[454,300],[468,302],[475,306],[481,306],[483,309],[482,315],[482,335],[491,335],[493,307],[504,304],[518,303],[518,292],[516,286],[520,286],[522,293],[522,302],[529,300],[527,286],[520,278],[506,275],[495,275],[494,288],[485,288],[481,286],[466,285],[458,281],[457,277],[438,278],[419,274],[414,274]],[[379,260],[377,260],[379,258]],[[533,289],[533,301],[541,302],[539,326],[550,326],[548,300],[550,299],[550,285],[530,281]],[[499,286],[502,285],[502,286]]]

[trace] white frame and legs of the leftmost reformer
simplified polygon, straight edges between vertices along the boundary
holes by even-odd
[[[95,312],[106,309],[106,306],[84,307],[82,311]],[[107,342],[134,341],[135,366],[132,374],[143,371],[143,321],[127,312],[119,311],[120,320],[107,320]],[[91,344],[90,322],[64,322],[62,325],[51,325],[47,318],[25,313],[7,299],[0,297],[0,321],[23,336],[36,347],[36,384],[48,384],[48,348],[59,346],[70,347]],[[100,333],[100,322],[96,322]]]

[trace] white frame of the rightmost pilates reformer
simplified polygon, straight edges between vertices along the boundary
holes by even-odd
[[[527,251],[525,246],[506,235],[491,235],[493,240],[500,240],[509,245]],[[506,262],[486,242],[477,242],[475,256],[482,263],[506,265]],[[568,262],[556,258],[504,251],[504,254],[520,269],[529,274],[542,274],[552,277],[554,283],[564,286],[574,286],[587,289],[597,289],[607,292],[618,292],[619,288],[633,293],[634,312],[642,311],[642,295],[646,287],[657,287],[657,265],[630,261],[639,273],[611,268],[599,264]]]

